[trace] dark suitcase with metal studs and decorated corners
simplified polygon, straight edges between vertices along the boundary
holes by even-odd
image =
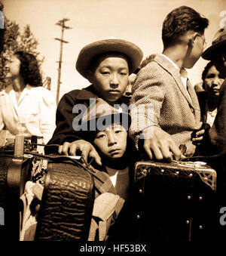
[[[216,171],[203,162],[136,162],[134,236],[138,242],[215,236]]]

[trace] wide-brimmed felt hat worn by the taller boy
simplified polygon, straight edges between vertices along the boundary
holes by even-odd
[[[135,71],[142,61],[142,50],[131,42],[121,39],[106,39],[93,42],[81,49],[76,61],[76,69],[87,78],[87,70],[90,68],[91,60],[99,54],[118,52],[125,54],[130,61],[130,73]]]

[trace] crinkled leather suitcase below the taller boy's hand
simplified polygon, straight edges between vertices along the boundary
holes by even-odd
[[[35,240],[87,241],[94,202],[92,175],[80,164],[49,162]]]

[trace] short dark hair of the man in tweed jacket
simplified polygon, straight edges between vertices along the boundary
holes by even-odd
[[[203,33],[209,20],[188,6],[174,9],[163,21],[162,39],[164,47],[180,42],[179,37],[189,30]]]

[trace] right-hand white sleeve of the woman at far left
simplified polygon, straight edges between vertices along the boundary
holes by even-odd
[[[43,88],[40,103],[40,130],[46,144],[56,128],[56,100],[51,91]]]

